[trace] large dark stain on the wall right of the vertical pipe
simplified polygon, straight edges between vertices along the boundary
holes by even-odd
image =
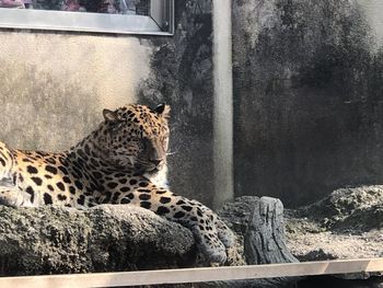
[[[383,183],[383,47],[346,0],[233,2],[237,195]]]

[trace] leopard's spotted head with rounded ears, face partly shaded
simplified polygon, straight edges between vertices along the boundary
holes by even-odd
[[[170,106],[127,105],[104,110],[103,145],[108,162],[135,173],[156,173],[166,164]]]

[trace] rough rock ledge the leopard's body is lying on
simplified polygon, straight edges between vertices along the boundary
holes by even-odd
[[[137,207],[0,207],[2,276],[175,268],[194,255],[189,230]]]

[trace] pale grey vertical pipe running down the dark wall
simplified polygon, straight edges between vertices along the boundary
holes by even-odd
[[[231,0],[212,0],[213,207],[234,198]]]

